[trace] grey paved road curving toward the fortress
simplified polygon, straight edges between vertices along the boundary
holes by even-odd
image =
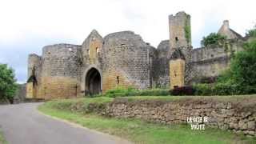
[[[40,114],[40,103],[0,106],[0,126],[9,144],[126,144],[125,140]]]

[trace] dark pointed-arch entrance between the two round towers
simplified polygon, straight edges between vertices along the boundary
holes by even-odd
[[[86,95],[99,94],[101,92],[101,74],[95,68],[88,70],[86,74]]]

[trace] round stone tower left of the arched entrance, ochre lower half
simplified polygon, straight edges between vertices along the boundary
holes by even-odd
[[[38,98],[68,98],[79,93],[78,57],[81,46],[57,44],[42,49],[42,77]]]

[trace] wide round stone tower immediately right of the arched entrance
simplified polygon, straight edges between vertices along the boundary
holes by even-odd
[[[102,46],[102,90],[117,86],[150,88],[151,46],[138,34],[122,31],[108,34]]]

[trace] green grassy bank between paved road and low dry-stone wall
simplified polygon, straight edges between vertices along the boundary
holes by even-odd
[[[130,101],[136,99],[178,100],[186,97],[130,97]],[[167,99],[166,99],[167,98]],[[198,97],[200,98],[200,97]],[[239,97],[240,98],[240,97]],[[82,112],[71,112],[65,109],[66,106],[90,102],[111,102],[114,98],[79,98],[73,100],[60,100],[47,102],[39,106],[39,110],[44,114],[53,117],[66,119],[70,122],[78,123],[90,129],[102,131],[104,133],[117,135],[126,138],[134,143],[256,143],[253,138],[246,138],[240,134],[233,134],[228,131],[206,128],[206,130],[190,130],[186,125],[161,125],[143,122],[137,119],[105,118],[95,114],[83,114]]]

